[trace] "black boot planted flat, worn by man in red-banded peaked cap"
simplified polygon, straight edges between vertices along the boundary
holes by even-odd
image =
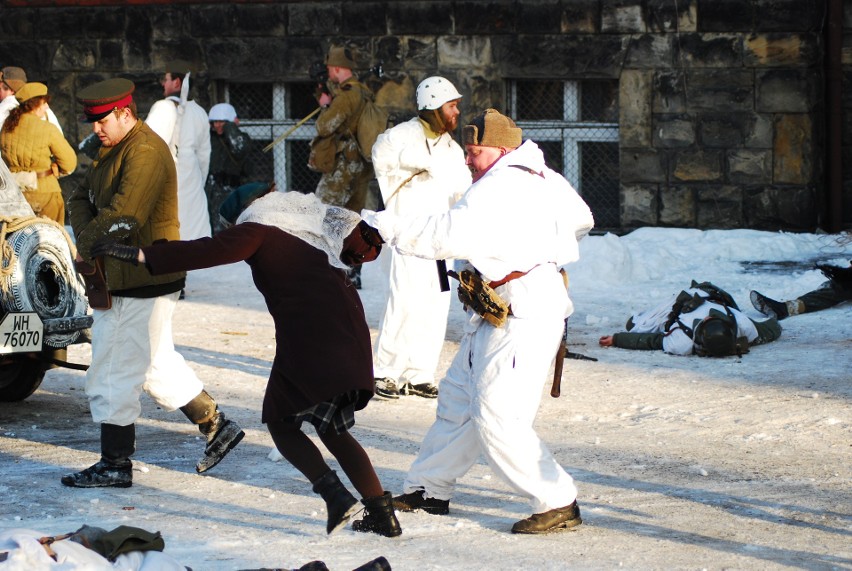
[[[72,488],[129,488],[133,485],[136,425],[101,424],[101,459],[82,472],[62,476]]]

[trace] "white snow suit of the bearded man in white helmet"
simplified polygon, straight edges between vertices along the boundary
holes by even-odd
[[[381,135],[373,168],[385,208],[400,216],[446,212],[470,186],[464,151],[415,117]],[[375,343],[373,372],[400,383],[435,382],[444,345],[450,292],[442,292],[432,260],[386,248],[382,266],[390,293]]]

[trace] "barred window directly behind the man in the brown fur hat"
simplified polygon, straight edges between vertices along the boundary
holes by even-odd
[[[591,208],[598,230],[621,226],[618,82],[511,80],[509,115]]]

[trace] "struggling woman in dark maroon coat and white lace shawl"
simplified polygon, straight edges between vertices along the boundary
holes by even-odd
[[[261,194],[268,187],[254,188],[250,192]],[[226,202],[249,202],[230,198]],[[357,500],[302,432],[305,421],[316,428],[363,498],[365,516],[352,528],[387,537],[402,533],[390,492],[384,491],[366,451],[349,432],[355,411],[373,396],[373,361],[361,298],[346,269],[374,260],[380,243],[354,212],[323,204],[312,194],[270,192],[250,203],[236,225],[212,238],[141,249],[106,239],[92,250],[140,265],[155,276],[242,260],[251,266],[275,323],[275,359],[261,420],[284,458],[326,501],[328,533],[346,525]]]

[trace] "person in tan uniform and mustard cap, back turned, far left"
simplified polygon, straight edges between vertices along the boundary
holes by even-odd
[[[77,153],[55,125],[45,121],[50,102],[43,83],[15,93],[20,105],[0,131],[0,153],[36,216],[65,224],[65,200],[57,178],[74,172]]]

